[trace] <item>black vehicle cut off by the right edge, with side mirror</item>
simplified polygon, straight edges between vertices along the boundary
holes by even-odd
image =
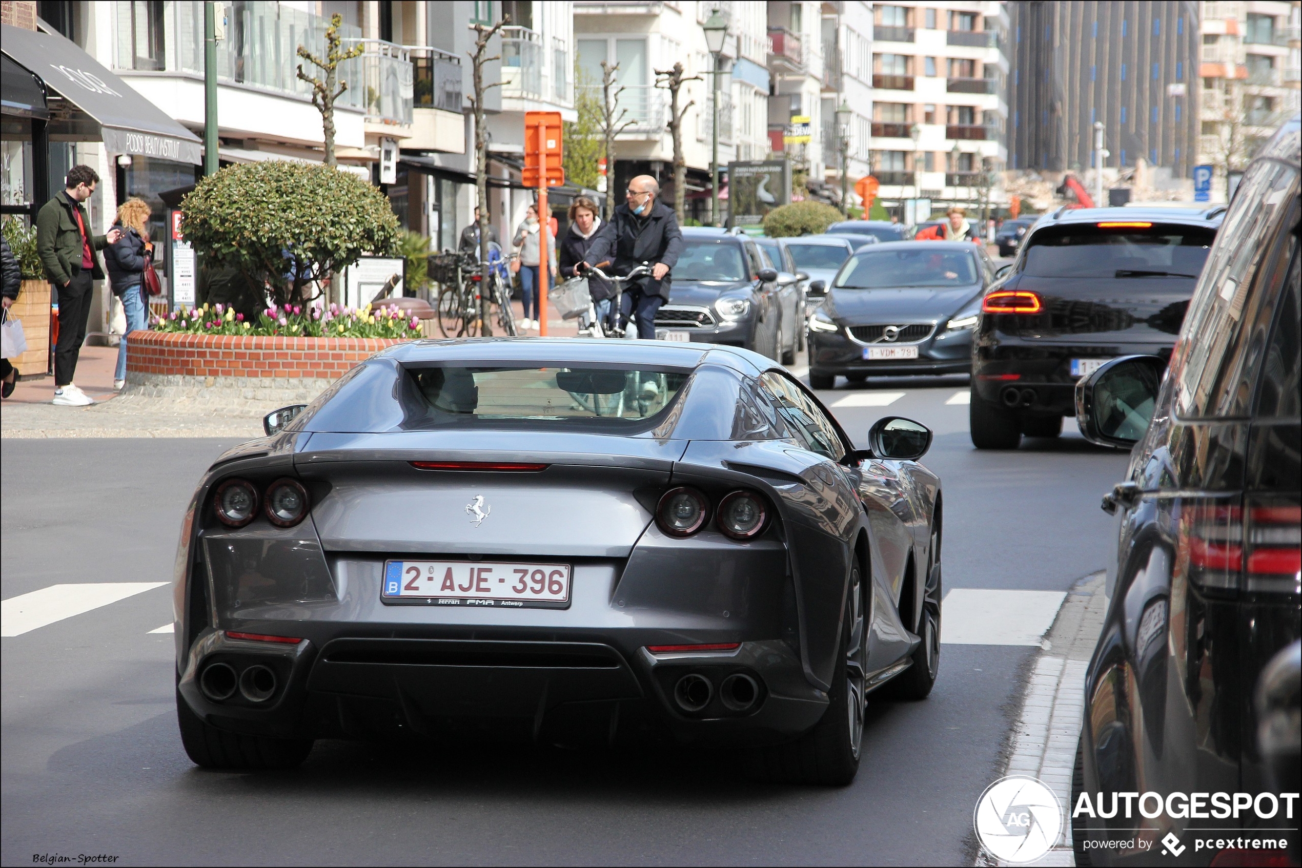
[[[1134,864],[1109,839],[1137,826],[1181,864],[1298,864],[1299,135],[1245,172],[1169,367],[1128,355],[1075,385],[1082,433],[1131,449],[1103,501],[1117,548],[1072,794],[1100,809],[1073,812],[1078,865]],[[1112,811],[1133,793],[1157,815]]]

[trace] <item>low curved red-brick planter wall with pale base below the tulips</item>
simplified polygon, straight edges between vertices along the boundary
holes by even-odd
[[[306,403],[358,362],[404,341],[132,332],[117,401],[171,398],[212,411]]]

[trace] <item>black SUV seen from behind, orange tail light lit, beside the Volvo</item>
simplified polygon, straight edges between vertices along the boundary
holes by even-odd
[[[1120,355],[1169,358],[1224,212],[1060,208],[1040,219],[982,302],[973,444],[1056,437],[1079,377]]]

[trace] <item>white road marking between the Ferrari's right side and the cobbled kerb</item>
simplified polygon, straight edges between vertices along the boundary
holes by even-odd
[[[940,640],[950,645],[1039,645],[1066,599],[1064,591],[954,588],[940,610]]]

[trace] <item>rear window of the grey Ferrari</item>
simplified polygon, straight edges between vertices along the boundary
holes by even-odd
[[[642,427],[678,394],[687,372],[621,367],[408,368],[427,426],[530,422]],[[413,420],[414,422],[414,420]]]

